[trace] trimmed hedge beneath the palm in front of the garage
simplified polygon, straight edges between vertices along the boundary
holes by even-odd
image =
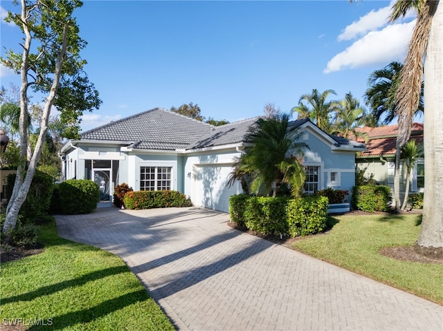
[[[323,231],[328,205],[327,198],[323,196],[293,200],[240,194],[230,197],[229,214],[232,222],[257,234],[289,234],[295,237]]]

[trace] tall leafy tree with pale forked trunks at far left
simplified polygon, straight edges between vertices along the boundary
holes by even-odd
[[[18,4],[18,1],[17,3]],[[89,82],[83,67],[86,61],[80,50],[86,41],[80,38],[79,28],[73,17],[78,0],[21,0],[20,12],[8,12],[6,21],[15,23],[23,32],[21,53],[9,49],[0,63],[21,77],[20,88],[20,158],[14,189],[6,208],[6,220],[2,232],[10,240],[10,230],[17,224],[21,205],[26,200],[37,162],[42,153],[51,108],[60,111],[62,122],[78,129],[78,121],[84,111],[100,106],[101,100],[93,84]],[[31,48],[31,42],[33,47]],[[28,149],[29,93],[46,94],[42,117],[39,119],[39,135],[32,158],[26,162]],[[77,132],[78,134],[78,132]]]

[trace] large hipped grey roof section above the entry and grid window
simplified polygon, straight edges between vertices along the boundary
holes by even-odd
[[[134,149],[183,149],[215,126],[163,108],[138,113],[81,134],[82,140],[131,142]]]

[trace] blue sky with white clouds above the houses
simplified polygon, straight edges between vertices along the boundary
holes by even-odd
[[[1,0],[5,10],[19,8]],[[81,54],[103,103],[82,129],[189,102],[235,122],[269,102],[290,111],[313,88],[363,104],[370,73],[406,55],[414,17],[388,24],[389,14],[390,1],[370,0],[84,1]],[[0,28],[1,54],[19,50],[19,29]],[[0,79],[19,84],[3,67]]]

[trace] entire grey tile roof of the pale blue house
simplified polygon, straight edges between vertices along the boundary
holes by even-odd
[[[259,118],[213,126],[163,108],[154,108],[85,131],[81,134],[81,140],[122,142],[131,149],[201,149],[246,142],[246,135]],[[289,122],[289,126],[298,127],[306,122],[310,121],[295,120]],[[362,147],[361,143],[352,140],[335,135],[329,137],[336,141],[337,146]]]

